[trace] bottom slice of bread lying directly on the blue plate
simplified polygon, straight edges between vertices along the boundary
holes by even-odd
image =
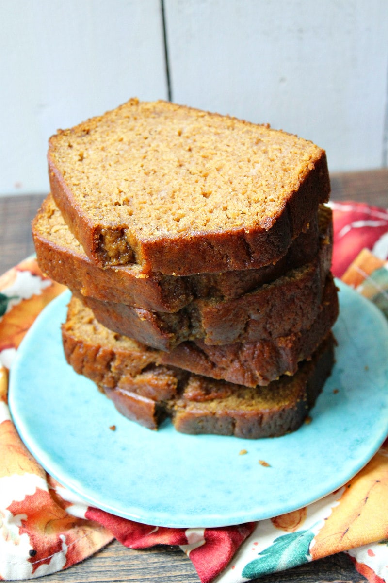
[[[267,387],[248,388],[189,374],[177,384],[173,398],[149,398],[127,388],[99,387],[122,415],[148,429],[158,429],[166,417],[177,431],[247,439],[280,437],[296,431],[307,418],[334,363],[330,335],[293,377],[284,375]],[[159,371],[149,371],[148,378]],[[178,370],[163,371],[167,376]],[[135,387],[136,389],[136,387]]]

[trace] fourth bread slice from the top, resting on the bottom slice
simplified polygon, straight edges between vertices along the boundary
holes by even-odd
[[[75,370],[108,387],[118,384],[122,377],[134,378],[147,367],[160,365],[256,387],[268,385],[282,374],[294,374],[298,362],[308,359],[328,335],[337,314],[336,289],[329,286],[319,315],[307,330],[227,346],[206,346],[199,340],[183,342],[163,352],[106,329],[73,296],[62,338],[66,359]]]

